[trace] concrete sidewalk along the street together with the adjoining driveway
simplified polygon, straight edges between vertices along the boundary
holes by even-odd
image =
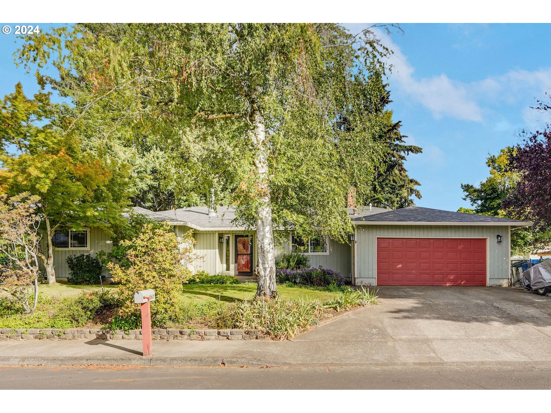
[[[385,287],[379,305],[285,341],[0,341],[2,365],[503,369],[551,366],[551,299],[492,287]]]

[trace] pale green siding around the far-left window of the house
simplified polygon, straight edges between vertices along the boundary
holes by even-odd
[[[113,247],[111,238],[104,230],[99,228],[89,229],[88,249],[65,249],[54,248],[53,250],[53,265],[56,271],[56,279],[66,279],[69,276],[69,268],[67,267],[67,257],[78,254],[90,254],[95,257],[99,251],[109,252]],[[44,236],[41,240],[42,251],[47,251]],[[41,266],[42,267],[42,266]],[[42,267],[42,269],[44,269]],[[110,278],[111,274],[106,269],[102,272],[102,277]]]

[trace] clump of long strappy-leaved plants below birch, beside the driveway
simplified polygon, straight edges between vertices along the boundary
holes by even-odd
[[[260,329],[274,338],[285,340],[304,332],[310,325],[320,322],[327,310],[319,300],[243,301],[233,305],[230,313],[236,328]]]

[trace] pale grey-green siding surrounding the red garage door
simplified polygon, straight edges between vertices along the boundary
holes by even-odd
[[[503,242],[496,242],[501,235]],[[358,225],[356,229],[356,285],[376,285],[377,237],[488,238],[488,285],[509,285],[509,226]]]

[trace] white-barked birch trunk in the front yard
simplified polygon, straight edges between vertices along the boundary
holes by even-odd
[[[264,117],[256,105],[252,105],[252,143],[255,147],[255,166],[258,177],[257,191],[260,205],[256,210],[256,243],[258,253],[258,287],[256,297],[272,298],[277,293],[276,255],[272,229],[272,205],[268,184],[268,148]]]

